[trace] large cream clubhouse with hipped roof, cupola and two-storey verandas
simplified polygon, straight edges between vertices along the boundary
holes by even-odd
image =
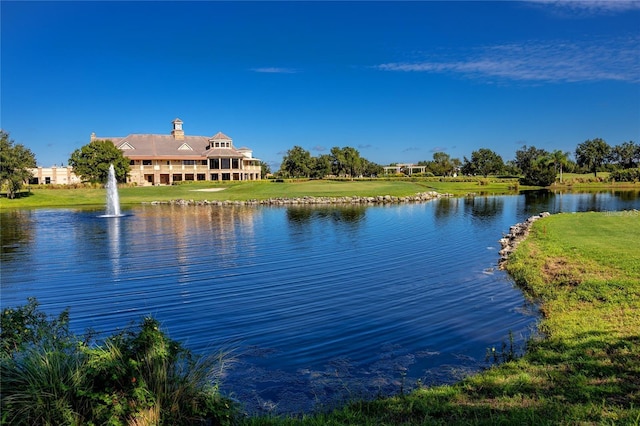
[[[137,185],[171,185],[181,181],[238,181],[261,179],[260,160],[248,148],[235,148],[222,132],[186,136],[182,120],[172,121],[167,135],[130,134],[98,137],[110,140],[129,159],[127,181]]]

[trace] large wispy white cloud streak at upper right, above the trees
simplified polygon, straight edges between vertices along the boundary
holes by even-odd
[[[380,64],[384,71],[454,73],[529,82],[640,82],[640,38],[602,42],[510,43],[477,49],[456,60]]]

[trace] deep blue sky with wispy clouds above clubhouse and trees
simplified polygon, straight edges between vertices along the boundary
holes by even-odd
[[[39,165],[98,136],[221,131],[279,167],[640,142],[640,1],[11,2],[1,126]]]

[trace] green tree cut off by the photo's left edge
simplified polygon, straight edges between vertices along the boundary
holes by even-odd
[[[0,185],[7,191],[7,198],[16,193],[33,176],[30,168],[36,167],[36,156],[22,144],[14,144],[9,133],[0,130]]]

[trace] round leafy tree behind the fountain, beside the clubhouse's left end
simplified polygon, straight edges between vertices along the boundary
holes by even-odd
[[[71,153],[69,165],[84,181],[105,183],[113,164],[118,182],[126,182],[129,160],[110,140],[95,140]]]

